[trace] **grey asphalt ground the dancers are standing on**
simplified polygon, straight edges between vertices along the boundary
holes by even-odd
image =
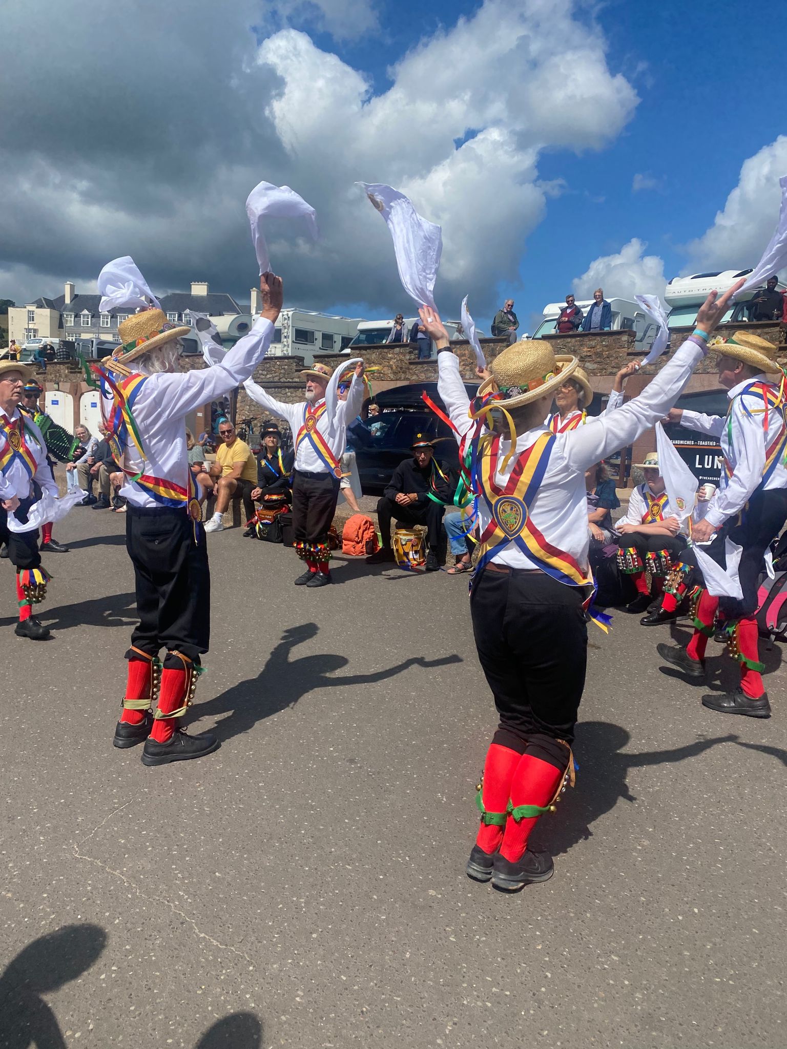
[[[787,1045],[779,647],[754,721],[664,672],[666,628],[591,627],[555,876],[509,896],[464,873],[494,724],[466,579],[337,558],[295,588],[292,551],[209,536],[192,721],[221,747],[145,768],[111,746],[124,528],[56,529],[45,643],[0,561],[0,1046]]]

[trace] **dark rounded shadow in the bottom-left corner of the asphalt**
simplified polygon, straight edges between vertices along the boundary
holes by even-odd
[[[64,925],[21,950],[0,976],[0,1047],[65,1049],[55,1013],[41,996],[87,971],[106,943],[98,925]]]

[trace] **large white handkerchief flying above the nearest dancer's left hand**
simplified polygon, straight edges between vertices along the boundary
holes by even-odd
[[[373,207],[385,219],[393,238],[393,252],[402,287],[419,306],[434,305],[434,281],[438,279],[443,236],[439,226],[423,218],[404,193],[383,183],[358,183],[363,186]]]

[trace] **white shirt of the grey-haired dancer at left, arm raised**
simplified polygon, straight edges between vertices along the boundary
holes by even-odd
[[[132,407],[146,457],[143,459],[129,442],[124,456],[126,471],[132,476],[143,473],[168,480],[188,490],[186,416],[240,386],[264,357],[272,338],[273,324],[258,317],[249,334],[238,339],[220,364],[198,371],[148,376]],[[130,477],[126,478],[121,494],[136,507],[159,506]]]

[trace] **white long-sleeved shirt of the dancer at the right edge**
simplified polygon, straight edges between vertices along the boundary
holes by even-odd
[[[730,404],[726,418],[686,410],[681,418],[681,425],[687,429],[717,437],[724,458],[732,468],[730,477],[727,477],[726,470],[722,469],[719,487],[707,504],[705,520],[714,528],[720,528],[742,510],[754,490],[760,487],[765,469],[766,449],[784,431],[784,418],[781,411],[773,408],[768,409],[766,430],[762,397],[743,393],[751,383],[766,383],[775,391],[775,387],[768,383],[764,374],[754,376],[727,390]],[[774,488],[787,488],[787,469],[781,463],[765,483],[766,491]]]

